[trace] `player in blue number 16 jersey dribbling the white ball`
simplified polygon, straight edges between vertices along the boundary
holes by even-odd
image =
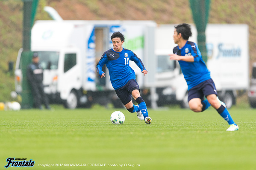
[[[113,48],[104,52],[99,63],[97,63],[97,72],[100,78],[105,77],[102,67],[106,64],[109,69],[109,76],[112,86],[115,89],[118,98],[122,101],[129,112],[137,112],[138,118],[144,120],[146,124],[151,124],[152,119],[148,116],[147,106],[141,98],[138,83],[135,80],[135,72],[129,66],[129,61],[134,61],[145,75],[145,69],[141,59],[131,50],[122,47],[124,35],[120,32],[114,32],[111,36]],[[135,99],[138,105],[132,103],[131,97]]]

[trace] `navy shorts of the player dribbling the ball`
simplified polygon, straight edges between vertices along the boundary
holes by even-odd
[[[141,91],[138,83],[132,79],[127,82],[124,86],[122,86],[119,89],[115,90],[115,93],[118,95],[118,98],[120,98],[121,102],[126,105],[129,103],[132,99],[132,91],[137,89],[138,91]]]

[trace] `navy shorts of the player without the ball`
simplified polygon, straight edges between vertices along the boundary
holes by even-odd
[[[215,84],[212,79],[203,81],[202,83],[188,90],[188,101],[192,98],[200,98],[204,100],[204,96],[215,94],[218,96]]]

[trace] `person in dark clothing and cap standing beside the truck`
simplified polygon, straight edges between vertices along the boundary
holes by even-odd
[[[46,109],[50,109],[47,95],[44,93],[43,77],[43,69],[39,63],[38,54],[35,52],[32,56],[32,63],[27,66],[27,79],[34,98],[33,106],[42,109],[43,103]]]

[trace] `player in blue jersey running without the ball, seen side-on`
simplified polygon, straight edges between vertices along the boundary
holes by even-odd
[[[238,130],[225,104],[218,99],[210,71],[202,59],[196,43],[188,41],[191,37],[190,25],[183,23],[175,26],[174,43],[176,46],[170,60],[177,60],[188,84],[188,105],[194,112],[203,112],[212,105],[230,125],[227,131]],[[206,100],[204,100],[206,96]]]

